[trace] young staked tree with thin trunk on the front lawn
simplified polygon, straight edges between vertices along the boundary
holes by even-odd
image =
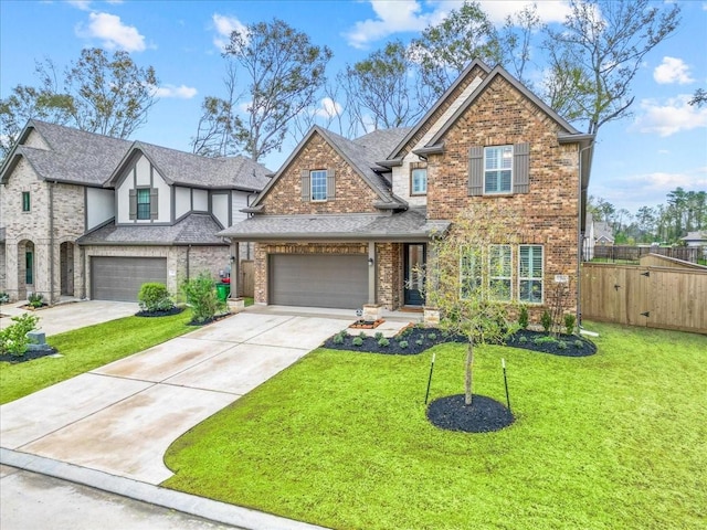
[[[492,221],[493,220],[493,221]],[[508,321],[511,301],[511,219],[487,208],[468,208],[444,237],[430,245],[425,271],[426,305],[442,316],[441,327],[468,340],[464,403],[473,404],[477,346],[497,343],[515,331]]]

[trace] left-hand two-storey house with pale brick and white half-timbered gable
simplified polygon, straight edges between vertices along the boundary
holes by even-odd
[[[145,282],[173,293],[200,271],[215,277],[232,258],[217,233],[245,218],[266,173],[30,120],[0,167],[0,290],[129,301]]]

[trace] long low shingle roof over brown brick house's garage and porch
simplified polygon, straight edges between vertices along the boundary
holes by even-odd
[[[444,233],[449,221],[428,221],[424,208],[388,215],[255,215],[219,232],[235,241],[409,241]]]

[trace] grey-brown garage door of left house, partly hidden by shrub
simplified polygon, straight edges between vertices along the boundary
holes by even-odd
[[[91,298],[94,300],[137,301],[140,286],[148,282],[167,284],[167,258],[91,258]]]

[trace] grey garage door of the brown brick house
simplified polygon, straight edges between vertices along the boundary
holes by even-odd
[[[367,301],[366,256],[270,256],[270,304],[356,309]]]

